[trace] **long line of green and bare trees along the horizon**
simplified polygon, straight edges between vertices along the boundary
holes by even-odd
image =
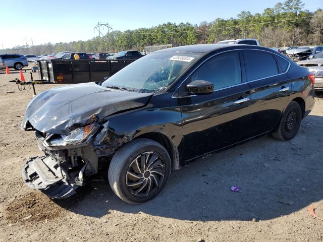
[[[199,25],[165,23],[151,28],[113,31],[104,37],[69,43],[46,43],[16,46],[6,53],[50,54],[60,51],[87,53],[118,52],[126,49],[144,50],[144,46],[172,44],[173,46],[216,43],[226,39],[256,38],[262,46],[285,47],[323,43],[323,10],[304,9],[301,0],[286,0],[274,8],[251,14],[242,11],[236,18],[217,18]]]

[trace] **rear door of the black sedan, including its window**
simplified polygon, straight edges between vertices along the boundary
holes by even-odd
[[[285,73],[290,64],[269,51],[245,50],[243,55],[251,92],[252,132],[259,135],[275,128],[289,101],[291,82]]]

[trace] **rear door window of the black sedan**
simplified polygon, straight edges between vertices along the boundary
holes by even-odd
[[[263,51],[245,51],[246,74],[248,81],[278,74],[278,67],[272,54]]]

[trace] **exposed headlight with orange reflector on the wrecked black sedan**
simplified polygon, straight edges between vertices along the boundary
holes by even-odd
[[[67,135],[52,135],[44,141],[49,146],[66,146],[84,142],[90,135],[95,132],[95,123],[91,123],[82,128],[75,129]]]

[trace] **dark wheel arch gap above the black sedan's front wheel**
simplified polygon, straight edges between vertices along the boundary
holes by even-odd
[[[167,137],[166,135],[160,132],[149,132],[149,133],[144,133],[142,135],[137,136],[134,140],[140,139],[140,138],[150,139],[164,146],[171,157],[172,169],[173,170],[179,169],[178,149],[174,144],[174,142],[169,137]]]

